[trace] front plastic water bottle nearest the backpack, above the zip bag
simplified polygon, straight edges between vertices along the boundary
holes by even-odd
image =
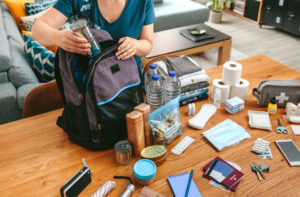
[[[158,74],[152,75],[152,80],[148,85],[147,103],[149,103],[151,110],[155,110],[163,104],[163,87],[159,81]]]

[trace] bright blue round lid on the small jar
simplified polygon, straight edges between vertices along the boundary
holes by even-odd
[[[138,179],[151,179],[156,174],[156,165],[149,159],[141,159],[134,164],[133,173]]]

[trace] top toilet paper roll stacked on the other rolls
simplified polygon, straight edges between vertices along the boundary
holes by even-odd
[[[230,86],[238,85],[242,75],[242,68],[242,65],[237,62],[225,62],[222,74],[223,82]]]

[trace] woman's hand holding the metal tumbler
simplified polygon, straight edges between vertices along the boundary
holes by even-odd
[[[86,55],[91,51],[91,45],[88,43],[88,41],[70,30],[59,31],[58,46],[66,51],[79,53],[82,55]]]

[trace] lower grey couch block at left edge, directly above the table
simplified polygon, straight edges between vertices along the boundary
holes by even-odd
[[[0,124],[22,118],[17,91],[12,83],[0,83]]]

